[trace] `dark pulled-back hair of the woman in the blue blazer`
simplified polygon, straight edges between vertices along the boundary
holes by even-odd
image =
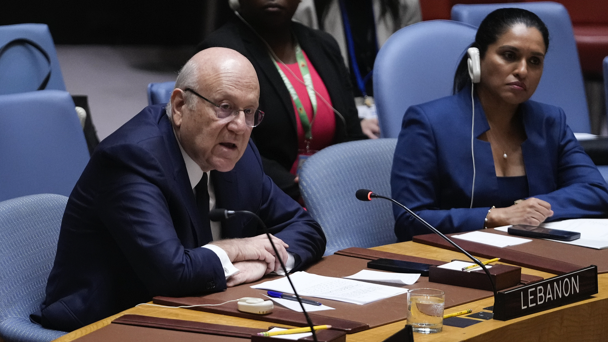
[[[475,42],[469,47],[477,47],[479,49],[479,58],[483,59],[488,51],[488,46],[494,44],[503,33],[515,24],[524,24],[527,27],[534,27],[539,30],[542,40],[545,42],[545,52],[547,52],[549,48],[549,30],[547,30],[545,23],[542,22],[541,18],[528,10],[513,8],[497,9],[489,13],[477,29]],[[468,57],[469,55],[466,54],[465,50],[465,55],[460,60],[460,64],[456,68],[456,74],[454,74],[454,94],[471,83],[467,64]]]

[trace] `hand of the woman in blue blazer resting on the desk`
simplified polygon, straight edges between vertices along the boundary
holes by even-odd
[[[507,225],[537,226],[547,217],[553,216],[551,204],[530,197],[507,208],[494,208],[488,214],[486,227],[494,228]]]

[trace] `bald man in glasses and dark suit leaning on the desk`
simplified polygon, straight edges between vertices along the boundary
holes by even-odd
[[[259,85],[250,62],[216,47],[182,68],[167,105],[148,106],[98,145],[67,202],[46,300],[33,321],[71,331],[153,296],[192,296],[319,259],[318,223],[266,176],[249,139]]]

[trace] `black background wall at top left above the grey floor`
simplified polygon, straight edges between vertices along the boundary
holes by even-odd
[[[227,0],[5,0],[0,25],[44,23],[55,44],[194,45],[232,15]]]

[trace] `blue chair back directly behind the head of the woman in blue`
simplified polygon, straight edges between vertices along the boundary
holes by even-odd
[[[452,7],[452,20],[479,26],[490,12],[505,7],[516,7],[535,13],[549,30],[549,49],[541,83],[531,99],[560,106],[573,131],[591,133],[581,63],[578,60],[572,22],[564,5],[557,2],[458,4]]]

